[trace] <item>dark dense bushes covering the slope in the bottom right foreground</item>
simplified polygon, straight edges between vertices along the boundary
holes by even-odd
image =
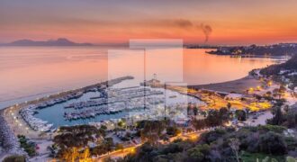
[[[290,142],[288,142],[290,141]],[[175,140],[167,145],[140,147],[119,161],[285,161],[288,152],[297,153],[296,138],[287,139],[284,127],[266,125],[217,129],[203,133],[198,141]]]

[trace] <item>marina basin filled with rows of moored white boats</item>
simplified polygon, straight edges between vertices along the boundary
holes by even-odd
[[[31,130],[54,131],[59,126],[88,123],[115,123],[118,120],[158,119],[186,116],[188,103],[204,105],[197,98],[164,88],[149,86],[117,87],[125,77],[102,85],[88,86],[42,102],[27,103],[20,115]],[[128,78],[130,80],[131,77]],[[114,85],[114,87],[112,86]],[[167,112],[165,112],[167,107]],[[166,114],[165,114],[166,113]],[[18,117],[12,114],[15,121]],[[179,117],[178,117],[179,116]]]

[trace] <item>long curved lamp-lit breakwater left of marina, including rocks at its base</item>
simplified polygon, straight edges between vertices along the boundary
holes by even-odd
[[[23,120],[23,117],[19,113],[24,107],[29,106],[31,104],[44,103],[49,100],[67,96],[68,94],[74,94],[79,92],[85,93],[95,87],[100,87],[102,85],[110,86],[120,83],[123,80],[132,78],[132,76],[122,76],[94,85],[87,85],[85,87],[78,88],[75,90],[69,90],[58,94],[44,96],[29,102],[14,104],[0,110],[0,139],[3,139],[3,141],[6,142],[2,142],[0,145],[0,159],[7,155],[24,154],[23,150],[19,146],[18,139],[16,138],[18,134],[23,134],[29,139],[51,139],[53,135],[53,133],[38,133],[38,131],[32,130],[29,124]]]

